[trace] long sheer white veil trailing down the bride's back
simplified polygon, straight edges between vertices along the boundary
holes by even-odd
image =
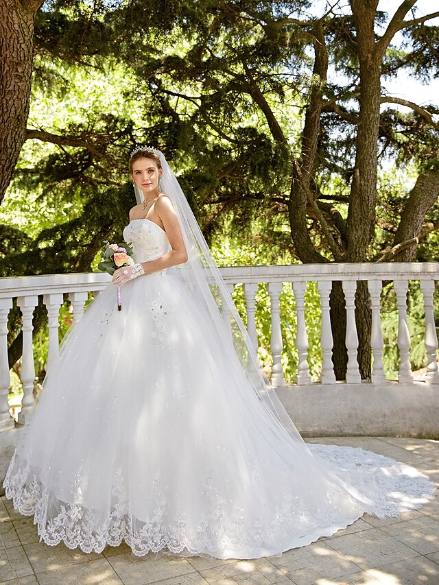
[[[246,326],[239,316],[180,183],[163,153],[149,147],[148,150],[154,150],[160,156],[163,169],[161,190],[169,197],[177,213],[188,254],[188,261],[185,264],[172,267],[168,269],[169,272],[182,280],[198,309],[209,315],[212,332],[217,336],[219,346],[228,357],[230,368],[244,370],[248,380],[246,387],[250,387],[257,394],[278,424],[282,425],[294,440],[303,442],[276,392],[261,372],[256,348],[250,340]],[[136,184],[134,191],[137,203],[143,202],[143,193]],[[227,315],[227,319],[230,315],[230,324],[224,321],[222,314]],[[239,391],[248,390],[239,388]]]

